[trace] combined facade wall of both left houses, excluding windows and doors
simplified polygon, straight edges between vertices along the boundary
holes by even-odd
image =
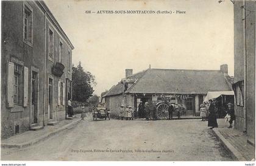
[[[23,41],[23,4],[28,4],[32,9],[32,45],[28,45]],[[37,3],[38,4],[38,3]],[[45,54],[48,50],[46,42],[44,12],[40,10],[40,5],[37,5],[34,1],[2,1],[2,41],[1,41],[1,138],[13,136],[15,133],[15,125],[20,125],[20,133],[29,130],[29,126],[32,124],[32,112],[30,101],[30,81],[32,69],[38,72],[38,124],[47,124],[48,114],[46,105],[48,102],[48,74],[51,74],[51,68],[53,64],[59,61],[59,40],[62,38],[60,33],[57,33],[57,29],[54,27],[54,61],[46,61],[46,80],[44,80],[44,60]],[[47,28],[48,29],[48,28]],[[65,119],[65,106],[58,106],[58,89],[57,84],[59,79],[65,81],[66,78],[72,80],[72,71],[68,72],[68,50],[72,56],[71,48],[66,44],[66,40],[63,40],[63,61],[65,66],[64,74],[61,78],[54,77],[54,118],[55,120]],[[71,60],[71,58],[70,58]],[[29,69],[28,78],[28,104],[27,106],[19,105],[7,108],[7,62],[18,61]],[[71,61],[72,64],[72,61]],[[23,89],[24,83],[21,78],[21,89]],[[45,83],[45,84],[44,84]],[[44,88],[45,86],[45,88]],[[24,92],[20,92],[20,102],[23,103]],[[46,100],[44,101],[44,94],[46,94]],[[46,119],[44,120],[44,113]]]

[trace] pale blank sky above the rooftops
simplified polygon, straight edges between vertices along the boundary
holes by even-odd
[[[149,64],[210,70],[228,64],[233,75],[233,4],[228,0],[45,2],[75,47],[73,64],[81,61],[95,76],[94,94],[116,85],[125,77],[125,69],[133,69],[134,74]],[[99,10],[174,13],[98,14]]]

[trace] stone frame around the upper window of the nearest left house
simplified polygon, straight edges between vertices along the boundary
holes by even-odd
[[[25,19],[26,19],[26,11],[30,12],[30,19],[31,19],[31,27],[29,25],[29,21],[27,20],[27,24],[25,26]],[[31,35],[30,39],[25,37],[25,27],[26,27],[26,35]],[[28,34],[28,31],[31,31],[30,34]],[[28,4],[28,2],[24,1],[23,2],[23,42],[29,45],[30,47],[33,47],[33,9],[32,7]]]

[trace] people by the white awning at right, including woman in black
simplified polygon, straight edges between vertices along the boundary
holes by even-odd
[[[202,121],[208,120],[210,129],[218,128],[215,102],[209,100],[208,103],[203,103],[200,107]],[[226,122],[229,122],[229,128],[232,128],[233,120],[235,120],[235,111],[232,103],[227,103],[226,117],[224,119],[226,119]]]

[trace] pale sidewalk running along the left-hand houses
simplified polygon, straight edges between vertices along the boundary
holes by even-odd
[[[21,134],[1,140],[1,148],[23,148],[37,144],[66,128],[71,128],[80,122],[80,114],[77,114],[73,120],[62,120],[55,126],[44,126],[42,130],[26,131]]]

